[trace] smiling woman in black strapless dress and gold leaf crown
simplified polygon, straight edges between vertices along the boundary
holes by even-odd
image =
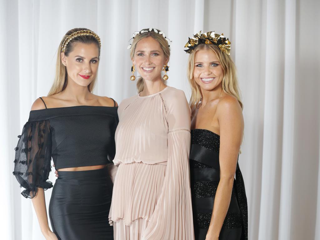
[[[238,164],[242,102],[230,42],[208,32],[189,38],[190,178],[197,240],[248,239],[248,207]]]

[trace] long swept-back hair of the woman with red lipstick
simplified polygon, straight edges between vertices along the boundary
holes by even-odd
[[[68,73],[67,73],[66,66],[64,66],[62,64],[62,61],[61,61],[61,54],[60,54],[61,53],[61,47],[62,47],[62,44],[63,44],[64,40],[68,36],[70,36],[72,33],[75,33],[77,31],[81,31],[81,30],[89,30],[89,31],[91,31],[90,29],[87,29],[87,28],[73,28],[73,29],[69,30],[63,36],[63,38],[62,38],[62,40],[61,40],[61,42],[59,44],[58,51],[57,51],[56,76],[54,78],[54,82],[52,84],[52,87],[51,87],[51,89],[50,89],[50,91],[48,93],[48,96],[56,94],[56,93],[59,93],[59,92],[62,92],[67,87],[67,84],[68,84]],[[72,52],[73,46],[74,46],[75,43],[84,43],[84,44],[94,43],[94,44],[96,44],[97,47],[99,48],[99,59],[100,59],[100,44],[99,44],[98,40],[94,36],[82,35],[82,36],[77,36],[77,37],[73,38],[68,43],[68,45],[66,46],[66,49],[64,51],[64,54],[66,56],[68,56],[69,53]],[[96,77],[88,85],[88,90],[90,92],[92,92],[95,82],[96,82]]]

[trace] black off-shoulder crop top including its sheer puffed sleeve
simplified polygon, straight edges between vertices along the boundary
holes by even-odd
[[[112,163],[117,107],[74,106],[30,112],[18,137],[13,174],[21,194],[32,198],[37,188],[51,188],[51,157],[56,169]]]

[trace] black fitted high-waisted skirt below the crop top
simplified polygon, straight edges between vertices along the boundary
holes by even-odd
[[[108,223],[113,187],[108,169],[58,174],[49,205],[58,239],[113,239]]]

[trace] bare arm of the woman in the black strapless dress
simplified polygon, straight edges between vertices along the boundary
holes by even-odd
[[[207,239],[218,239],[228,212],[244,129],[242,109],[232,96],[220,100],[217,116],[220,127],[220,182],[214,199]]]

